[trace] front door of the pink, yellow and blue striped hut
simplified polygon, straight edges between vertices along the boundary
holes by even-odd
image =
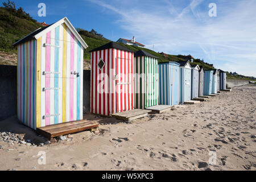
[[[46,59],[42,63],[45,67],[42,68],[41,126],[81,119],[80,75],[82,73],[79,71],[81,63],[78,63],[76,44],[67,43],[67,55],[60,59],[60,51],[63,50],[55,46],[55,42],[47,40]],[[59,43],[64,44],[61,40]]]

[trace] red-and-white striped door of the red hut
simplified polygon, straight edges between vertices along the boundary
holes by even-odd
[[[116,65],[116,107],[117,112],[127,111],[131,107],[131,93],[133,77],[131,76],[131,59],[117,57],[115,59]]]

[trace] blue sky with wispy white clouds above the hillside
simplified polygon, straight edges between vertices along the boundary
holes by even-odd
[[[135,36],[154,51],[191,54],[216,68],[256,77],[255,0],[13,1],[39,22],[67,16],[74,27],[94,28],[110,40]],[[38,16],[40,2],[46,3],[46,17]],[[208,15],[209,3],[216,3],[216,17]]]

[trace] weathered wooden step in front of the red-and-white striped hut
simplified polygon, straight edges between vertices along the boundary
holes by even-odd
[[[144,109],[133,109],[133,110],[128,110],[128,111],[123,111],[120,113],[114,113],[111,114],[113,117],[117,119],[121,119],[123,121],[128,121],[131,122],[134,119],[142,118],[148,115],[151,110],[144,110]]]

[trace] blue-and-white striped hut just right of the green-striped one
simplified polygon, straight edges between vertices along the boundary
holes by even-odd
[[[180,64],[159,63],[159,104],[177,105],[180,103]]]

